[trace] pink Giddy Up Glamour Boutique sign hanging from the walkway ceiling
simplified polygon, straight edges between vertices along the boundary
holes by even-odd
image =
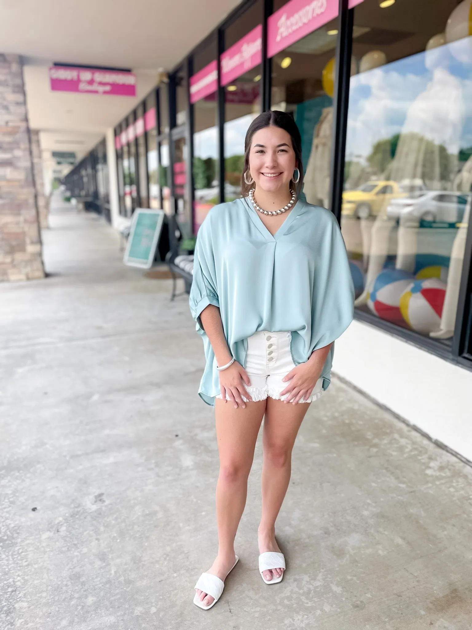
[[[53,92],[136,96],[136,75],[133,72],[51,66],[49,83]]]

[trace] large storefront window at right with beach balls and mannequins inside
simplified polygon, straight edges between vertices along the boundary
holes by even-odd
[[[437,340],[454,332],[470,213],[465,4],[364,0],[354,14],[342,233],[356,307]]]

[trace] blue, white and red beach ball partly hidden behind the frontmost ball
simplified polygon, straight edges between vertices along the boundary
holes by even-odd
[[[383,269],[368,292],[367,305],[381,319],[403,323],[400,296],[412,284],[412,273],[402,269]]]

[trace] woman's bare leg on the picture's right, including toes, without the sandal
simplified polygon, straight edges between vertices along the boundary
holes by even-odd
[[[311,403],[284,404],[267,398],[262,433],[262,516],[257,534],[259,553],[280,551],[275,539],[275,522],[285,498],[291,475],[291,454],[295,438]],[[283,568],[263,571],[266,580],[278,578]]]

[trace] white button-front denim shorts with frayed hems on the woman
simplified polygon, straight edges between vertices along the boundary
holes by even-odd
[[[267,396],[276,400],[284,400],[288,394],[280,392],[288,386],[289,381],[282,381],[295,363],[290,352],[291,333],[271,333],[259,331],[247,340],[246,372],[250,379],[250,386],[244,387],[250,393],[253,401],[265,400]],[[318,379],[310,398],[301,399],[299,403],[313,403],[323,393],[323,379]],[[216,398],[223,398],[218,394]],[[226,395],[229,400],[228,394]],[[242,396],[245,403],[248,399]]]

